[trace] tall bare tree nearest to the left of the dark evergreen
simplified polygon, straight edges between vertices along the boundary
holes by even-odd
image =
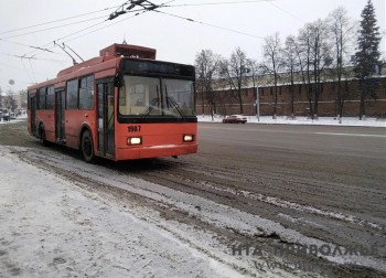
[[[347,73],[345,68],[349,65],[349,51],[350,45],[354,41],[355,24],[347,17],[347,11],[340,7],[329,15],[329,29],[331,33],[331,40],[333,41],[333,60],[334,60],[334,75],[336,78],[336,101],[337,114],[340,118],[343,117],[344,101],[350,96],[347,86]]]

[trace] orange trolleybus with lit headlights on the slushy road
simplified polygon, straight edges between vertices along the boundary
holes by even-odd
[[[28,129],[96,157],[130,160],[197,151],[195,72],[156,61],[156,50],[112,44],[28,88]]]

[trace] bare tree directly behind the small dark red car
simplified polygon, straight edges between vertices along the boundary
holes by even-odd
[[[244,114],[242,89],[247,84],[249,72],[247,55],[240,47],[236,47],[229,61],[223,60],[221,63],[219,73],[226,78],[230,92],[236,92],[240,114]]]

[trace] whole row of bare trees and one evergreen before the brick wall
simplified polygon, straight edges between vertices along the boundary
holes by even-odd
[[[274,110],[277,114],[278,86],[289,84],[291,110],[294,103],[294,84],[301,83],[307,89],[310,115],[318,115],[319,99],[323,92],[323,81],[334,81],[337,113],[343,116],[345,100],[353,97],[346,81],[358,79],[360,118],[365,115],[365,101],[376,99],[379,81],[373,78],[380,74],[382,62],[379,43],[382,40],[371,0],[364,7],[360,23],[349,18],[344,8],[332,11],[325,20],[304,24],[298,35],[289,35],[283,41],[277,32],[264,39],[262,58],[247,57],[240,49],[229,58],[215,54],[212,50],[202,50],[196,54],[197,97],[215,110],[214,89],[218,84],[227,87],[230,97],[239,105],[243,114],[242,89],[250,79],[256,89],[259,76],[268,78],[272,87]],[[352,76],[354,73],[354,76]]]

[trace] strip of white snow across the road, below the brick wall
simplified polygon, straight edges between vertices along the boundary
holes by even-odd
[[[214,116],[212,119],[211,115],[201,115],[197,116],[199,121],[205,121],[205,122],[222,122],[223,116]],[[336,117],[320,117],[318,119],[311,119],[308,117],[281,117],[278,116],[276,119],[272,118],[272,116],[262,116],[259,119],[256,116],[246,116],[248,119],[248,122],[254,124],[280,124],[280,125],[324,125],[324,126],[355,126],[355,127],[386,127],[386,119],[385,118],[365,118],[363,120],[360,120],[358,118],[354,117],[344,117],[344,118],[336,118]]]

